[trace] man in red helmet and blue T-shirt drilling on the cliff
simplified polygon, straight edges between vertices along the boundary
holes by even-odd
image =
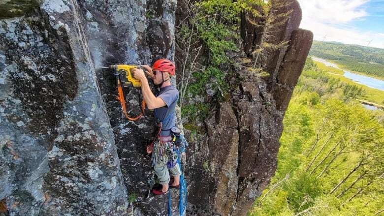
[[[147,153],[152,153],[152,165],[156,176],[160,181],[161,188],[154,188],[152,192],[156,195],[165,194],[169,187],[180,187],[180,167],[176,164],[177,154],[174,146],[171,128],[175,126],[175,107],[179,99],[179,91],[171,85],[170,76],[175,74],[175,65],[165,59],[160,59],[153,64],[141,65],[150,76],[153,83],[160,88],[160,92],[155,96],[148,84],[148,80],[142,69],[132,71],[134,78],[140,80],[141,91],[148,109],[155,109],[155,118],[158,121],[159,132],[154,142],[147,146]],[[168,171],[169,169],[169,171]],[[169,172],[173,176],[170,184]],[[169,185],[170,184],[170,185]]]

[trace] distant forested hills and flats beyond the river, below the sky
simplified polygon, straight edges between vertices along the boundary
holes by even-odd
[[[315,40],[309,55],[331,60],[347,70],[384,78],[384,49]]]

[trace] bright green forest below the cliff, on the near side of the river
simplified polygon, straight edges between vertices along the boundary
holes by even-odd
[[[276,175],[250,216],[383,214],[384,111],[364,109],[360,94],[308,59],[285,114]]]

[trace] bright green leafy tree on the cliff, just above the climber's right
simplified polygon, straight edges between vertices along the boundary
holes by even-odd
[[[178,89],[180,104],[185,104],[189,93],[204,94],[205,84],[214,77],[215,89],[223,95],[226,88],[224,73],[219,65],[229,61],[226,52],[234,51],[238,14],[243,1],[182,0],[186,17],[176,27],[176,48],[182,55]],[[203,59],[201,59],[203,57]],[[204,66],[202,65],[204,64]]]

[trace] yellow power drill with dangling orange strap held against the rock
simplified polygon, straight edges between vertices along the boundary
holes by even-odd
[[[104,67],[105,68],[105,67]],[[113,75],[116,77],[116,86],[119,96],[117,96],[117,100],[120,101],[121,109],[123,111],[123,116],[125,116],[130,121],[138,120],[143,114],[145,109],[145,101],[144,99],[141,101],[141,113],[136,117],[130,117],[127,113],[126,108],[126,100],[123,93],[123,87],[141,87],[140,80],[133,78],[131,71],[137,68],[141,68],[139,65],[134,64],[112,64],[109,65],[109,68],[112,70]]]

